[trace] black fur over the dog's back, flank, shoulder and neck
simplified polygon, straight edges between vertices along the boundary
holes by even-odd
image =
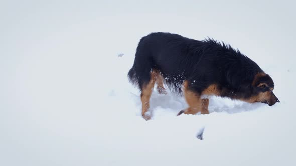
[[[189,88],[198,94],[217,84],[221,96],[229,98],[250,97],[254,92],[254,76],[263,72],[254,61],[223,42],[162,32],[140,40],[128,72],[129,80],[142,89],[149,82],[152,69],[159,70],[165,83],[177,92],[188,80]]]

